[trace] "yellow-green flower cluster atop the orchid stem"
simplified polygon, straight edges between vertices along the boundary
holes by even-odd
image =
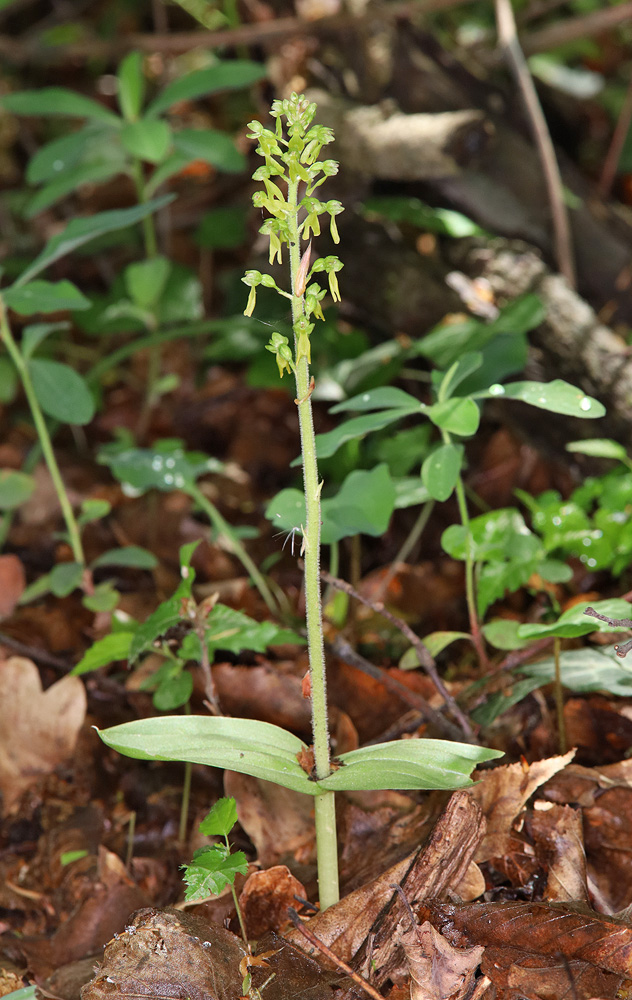
[[[339,201],[320,201],[314,197],[316,189],[338,172],[335,160],[319,160],[323,146],[333,142],[331,129],[324,125],[312,125],[316,105],[306,97],[292,94],[290,98],[275,101],[271,114],[276,118],[274,131],[266,129],[261,122],[250,122],[249,137],[257,140],[257,153],[264,163],[253,174],[263,185],[252,197],[255,208],[267,212],[268,218],[259,232],[270,241],[270,264],[282,263],[283,247],[290,249],[290,260],[300,259],[300,267],[292,273],[292,292],[279,288],[269,274],[247,271],[242,281],[249,286],[248,303],[244,310],[251,316],[256,303],[257,287],[274,288],[280,295],[293,303],[295,358],[286,337],[274,333],[267,349],[277,359],[279,372],[293,371],[302,358],[310,361],[309,337],[314,324],[309,322],[313,315],[323,319],[321,307],[326,292],[317,281],[310,279],[318,272],[325,272],[329,280],[329,291],[335,302],[340,301],[337,272],[342,262],[335,256],[317,258],[310,264],[311,237],[321,232],[321,216],[329,216],[329,231],[334,243],[340,242],[336,216],[343,211]],[[301,186],[303,196],[298,197]],[[309,240],[309,246],[301,256],[301,241]],[[294,251],[294,254],[292,253]],[[297,256],[298,255],[298,256]]]

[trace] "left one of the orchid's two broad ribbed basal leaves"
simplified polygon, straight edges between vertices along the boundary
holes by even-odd
[[[108,746],[137,760],[182,760],[251,774],[283,788],[317,795],[296,755],[306,750],[297,736],[254,719],[175,715],[139,719],[99,731]],[[407,741],[412,742],[412,741]]]

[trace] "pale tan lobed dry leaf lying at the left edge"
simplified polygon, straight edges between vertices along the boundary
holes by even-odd
[[[31,660],[0,662],[0,791],[5,813],[42,775],[72,756],[86,715],[86,693],[78,677],[63,677],[42,691]]]

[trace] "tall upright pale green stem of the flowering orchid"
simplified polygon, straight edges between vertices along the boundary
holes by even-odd
[[[290,229],[290,282],[292,290],[292,324],[305,318],[303,295],[297,295],[296,277],[301,260],[298,232],[298,180],[288,184],[288,223]],[[295,345],[296,345],[295,335]],[[301,433],[303,485],[305,489],[305,607],[307,646],[312,700],[312,735],[314,740],[315,777],[326,778],[331,773],[329,724],[327,719],[327,678],[323,640],[322,599],[320,591],[320,490],[316,461],[316,440],[312,414],[309,365],[305,356],[295,366],[296,405]],[[315,796],[316,852],[320,907],[325,910],[339,899],[338,844],[336,839],[336,805],[333,792]]]

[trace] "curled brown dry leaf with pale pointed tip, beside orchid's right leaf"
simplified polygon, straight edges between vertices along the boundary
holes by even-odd
[[[569,750],[562,757],[550,757],[533,764],[508,764],[483,772],[480,781],[469,789],[487,820],[487,833],[476,852],[478,863],[502,858],[509,851],[513,823],[527,801],[574,756],[575,751]]]

